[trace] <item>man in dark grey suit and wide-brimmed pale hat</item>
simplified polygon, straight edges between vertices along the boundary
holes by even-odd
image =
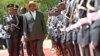
[[[28,4],[29,12],[25,14],[26,22],[24,23],[24,38],[30,43],[33,56],[44,56],[43,41],[46,34],[46,24],[44,16],[37,11],[37,4],[30,1]]]

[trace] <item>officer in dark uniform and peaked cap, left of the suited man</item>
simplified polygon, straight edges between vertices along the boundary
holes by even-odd
[[[17,9],[18,5],[8,4],[8,15],[4,18],[3,29],[9,35],[7,37],[9,56],[19,56],[23,17],[17,14]]]

